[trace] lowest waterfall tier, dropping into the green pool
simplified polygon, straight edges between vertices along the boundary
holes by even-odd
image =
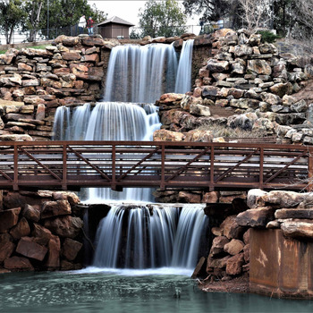
[[[115,206],[98,226],[93,266],[193,268],[207,224],[203,206]]]

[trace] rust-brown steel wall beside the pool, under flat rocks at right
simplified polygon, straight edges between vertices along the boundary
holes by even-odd
[[[313,242],[286,239],[280,229],[250,231],[250,292],[313,299]]]

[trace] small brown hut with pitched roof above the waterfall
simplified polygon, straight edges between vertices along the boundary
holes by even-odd
[[[103,38],[130,38],[130,28],[135,26],[117,16],[97,24],[97,32]]]

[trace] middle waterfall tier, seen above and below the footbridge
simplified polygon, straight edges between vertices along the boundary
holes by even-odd
[[[136,125],[136,127],[134,127]],[[118,102],[99,102],[74,109],[60,106],[55,113],[54,140],[152,140],[160,126],[157,106]],[[84,191],[86,202],[103,199],[152,201],[149,188],[125,188],[123,192],[107,188]]]

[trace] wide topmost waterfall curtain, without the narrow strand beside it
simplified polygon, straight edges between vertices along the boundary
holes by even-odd
[[[117,46],[111,51],[105,101],[154,103],[173,92],[177,57],[173,45]]]

